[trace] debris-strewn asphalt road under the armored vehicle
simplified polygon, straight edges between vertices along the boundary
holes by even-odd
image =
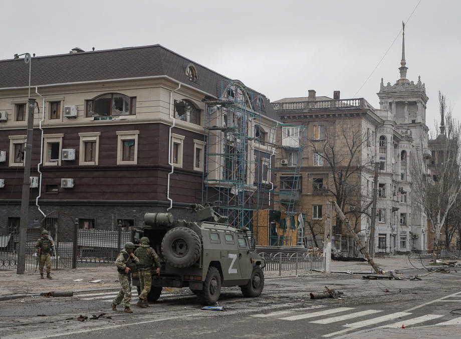
[[[348,274],[268,279],[259,298],[223,288],[219,304],[225,311],[202,310],[188,289],[165,290],[147,309],[134,306],[133,298],[133,314],[124,313],[122,306],[117,312],[110,309],[117,293],[113,289],[67,298],[28,297],[0,303],[0,337],[329,338],[359,337],[381,327],[379,336],[362,336],[372,338],[404,337],[411,328],[427,325],[439,325],[437,332],[446,334],[449,324],[461,323],[461,310],[450,313],[461,308],[459,278],[461,272],[433,273],[422,281],[367,281]],[[326,279],[344,297],[311,300],[310,291],[321,291]],[[76,320],[80,314],[102,312],[111,318]],[[387,329],[398,333],[385,336]],[[459,333],[443,337],[458,338]]]

